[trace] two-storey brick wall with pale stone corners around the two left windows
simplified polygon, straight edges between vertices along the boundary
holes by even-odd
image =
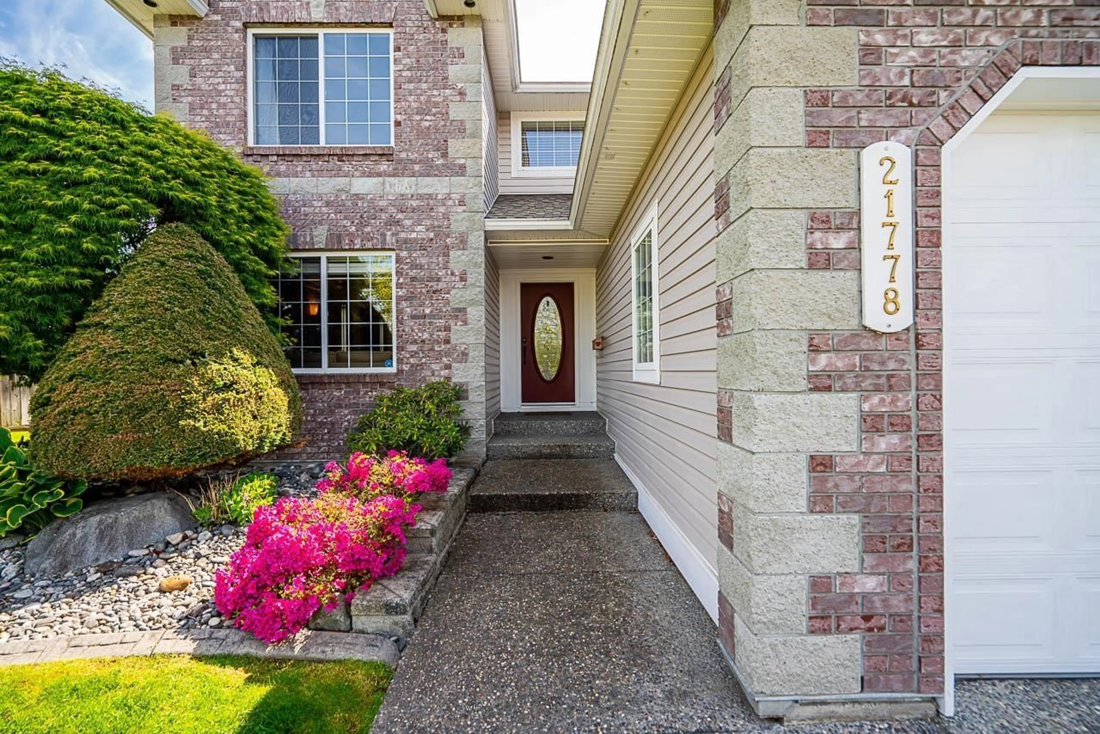
[[[396,374],[300,375],[308,443],[284,456],[337,458],[378,391],[446,379],[466,388],[476,445],[485,423],[480,19],[433,20],[421,0],[209,4],[202,19],[157,17],[158,110],[273,178],[294,250],[396,252]],[[246,146],[246,29],[278,24],[393,28],[393,147]]]

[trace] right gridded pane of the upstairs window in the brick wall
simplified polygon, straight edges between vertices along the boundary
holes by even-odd
[[[389,34],[324,34],[324,142],[389,145]]]

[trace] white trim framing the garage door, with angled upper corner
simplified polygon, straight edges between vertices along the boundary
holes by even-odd
[[[1020,85],[1024,83],[1025,79],[1032,78],[1045,78],[1045,79],[1096,79],[1100,78],[1100,67],[1094,66],[1024,66],[1021,67],[1011,79],[1009,79],[1001,89],[993,95],[988,102],[986,102],[978,112],[970,118],[963,128],[955,133],[955,135],[944,143],[941,149],[941,196],[942,196],[942,211],[943,211],[943,224],[941,226],[941,288],[943,293],[946,293],[949,288],[955,285],[955,275],[957,273],[956,265],[954,264],[954,250],[952,243],[954,241],[954,232],[952,231],[952,220],[954,215],[953,200],[950,196],[952,190],[952,158],[955,151],[963,144],[963,142],[969,138],[974,132],[985,122],[990,114],[997,111],[1009,97],[1012,96]],[[964,281],[965,278],[959,278]],[[950,315],[947,309],[943,309],[943,354],[947,354],[948,343],[952,336],[952,324]],[[941,370],[941,377],[944,383],[947,382],[946,370]],[[944,384],[941,384],[941,391],[945,388]],[[948,494],[952,491],[950,482],[948,481],[950,476],[952,467],[952,447],[950,442],[946,440],[947,437],[947,419],[946,414],[944,416],[944,425],[942,427],[944,435],[944,695],[938,699],[938,705],[941,712],[945,716],[952,716],[955,714],[955,646],[953,645],[953,632],[955,625],[953,624],[955,616],[955,605],[952,603],[952,596],[954,594],[954,583],[952,582],[952,570],[955,566],[955,548],[952,543],[952,535],[955,530],[955,518],[952,513],[947,512],[948,507]]]

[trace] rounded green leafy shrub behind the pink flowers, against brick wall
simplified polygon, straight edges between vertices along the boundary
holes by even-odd
[[[448,382],[424,387],[397,387],[380,395],[374,408],[359,419],[348,437],[355,451],[408,451],[425,459],[443,459],[462,451],[470,427],[461,423],[459,388]]]

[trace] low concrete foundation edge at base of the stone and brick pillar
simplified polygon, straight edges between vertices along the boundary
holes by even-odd
[[[919,693],[854,693],[850,695],[761,697],[748,684],[734,657],[718,642],[726,665],[737,677],[746,700],[761,719],[779,719],[783,724],[804,722],[911,721],[935,719],[936,697]]]

